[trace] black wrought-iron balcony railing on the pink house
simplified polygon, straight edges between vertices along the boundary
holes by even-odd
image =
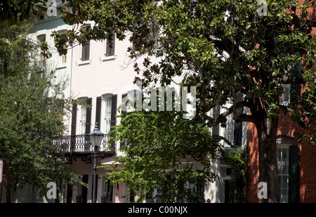
[[[115,143],[109,143],[110,135],[103,136],[98,152],[115,152]],[[87,135],[62,136],[55,138],[53,144],[58,147],[60,152],[66,153],[91,153],[94,152],[94,147],[90,137]]]

